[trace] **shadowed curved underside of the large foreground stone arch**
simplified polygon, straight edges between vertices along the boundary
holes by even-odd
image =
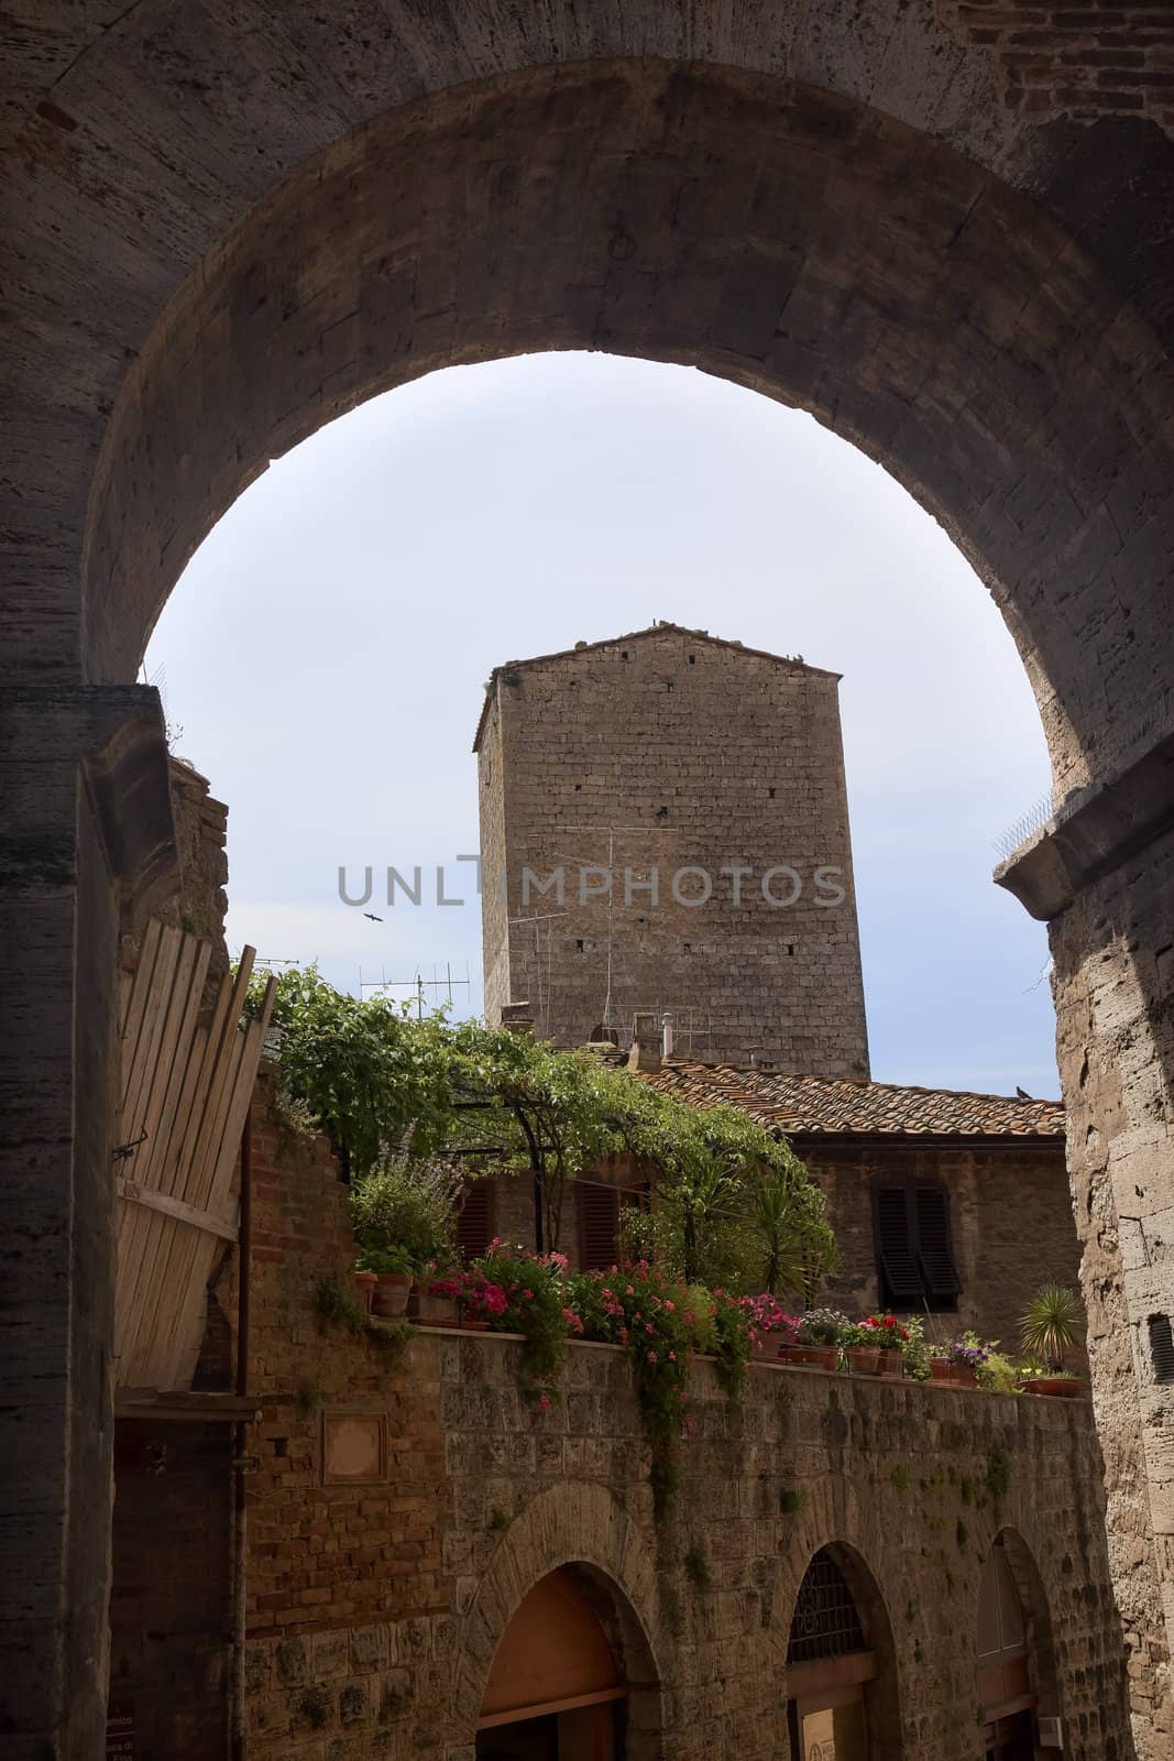
[[[421,373],[540,349],[679,361],[811,410],[987,581],[1065,789],[1107,761],[1107,710],[1142,736],[1160,680],[1134,630],[1169,560],[1134,548],[1125,606],[1104,507],[1107,453],[1118,493],[1155,512],[1174,497],[1174,387],[1142,319],[943,143],[859,100],[669,62],[421,99],[243,215],[107,426],[83,558],[92,676],[132,674],[187,556],[271,456]]]

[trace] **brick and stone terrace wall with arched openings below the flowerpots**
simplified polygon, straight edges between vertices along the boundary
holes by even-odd
[[[419,1331],[380,1349],[322,1331],[319,1280],[350,1263],[347,1192],[322,1139],[283,1139],[264,1085],[253,1171],[253,1761],[472,1761],[496,1643],[567,1562],[611,1587],[646,1647],[630,1761],[780,1761],[790,1610],[829,1543],[868,1588],[877,1754],[972,1761],[979,1578],[1005,1527],[1038,1567],[1037,1692],[1065,1719],[1065,1752],[1134,1754],[1084,1402],[762,1365],[732,1407],[702,1363],[685,1483],[657,1529],[623,1354],[570,1345],[563,1398],[540,1411],[509,1338]],[[385,1423],[371,1483],[324,1481],[341,1414]]]

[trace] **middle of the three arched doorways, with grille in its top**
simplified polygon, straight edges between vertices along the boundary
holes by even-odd
[[[887,1680],[885,1680],[887,1678]],[[887,1620],[862,1564],[843,1546],[811,1557],[787,1639],[792,1761],[899,1756]]]

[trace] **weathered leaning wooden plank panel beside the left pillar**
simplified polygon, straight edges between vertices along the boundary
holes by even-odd
[[[243,1021],[255,951],[201,1021],[211,944],[150,923],[120,998],[121,1120],[114,1150],[120,1389],[192,1386],[216,1254],[236,1242],[232,1187],[275,981]]]

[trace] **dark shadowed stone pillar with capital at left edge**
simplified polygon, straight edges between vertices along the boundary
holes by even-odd
[[[158,694],[0,692],[0,1731],[104,1752],[113,1442],[116,972],[174,886]]]

